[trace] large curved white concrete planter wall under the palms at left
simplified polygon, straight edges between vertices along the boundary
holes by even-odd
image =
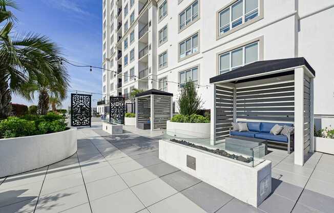
[[[77,151],[76,128],[62,132],[0,139],[0,177],[64,160]]]

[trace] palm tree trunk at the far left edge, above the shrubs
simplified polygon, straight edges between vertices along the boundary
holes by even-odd
[[[12,112],[12,96],[8,87],[8,80],[0,76],[0,120],[7,118]]]

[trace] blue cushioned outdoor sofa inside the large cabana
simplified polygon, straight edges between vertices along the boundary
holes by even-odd
[[[279,125],[287,125],[287,126],[293,126],[292,123],[269,123],[269,122],[242,122],[247,123],[247,127],[249,131],[245,132],[239,132],[239,131],[229,131],[229,135],[235,135],[235,136],[242,136],[242,137],[250,137],[250,138],[259,138],[259,139],[265,139],[269,142],[275,142],[280,144],[286,144],[287,145],[287,152],[290,154],[292,142],[293,142],[293,134],[289,136],[285,135],[273,135],[270,134],[270,130],[272,130],[273,126],[275,124]]]

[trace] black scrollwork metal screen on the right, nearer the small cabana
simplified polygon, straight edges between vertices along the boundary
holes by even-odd
[[[124,98],[110,96],[110,116],[109,122],[124,124]]]

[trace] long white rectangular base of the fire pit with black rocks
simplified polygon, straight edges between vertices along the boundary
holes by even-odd
[[[196,159],[195,169],[187,166],[187,156]],[[268,160],[249,167],[233,159],[167,140],[159,140],[159,158],[255,207],[272,192],[272,162]]]

